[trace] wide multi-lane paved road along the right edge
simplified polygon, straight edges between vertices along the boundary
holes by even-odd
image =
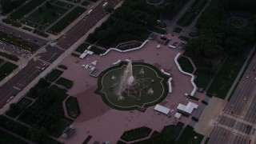
[[[248,143],[256,123],[256,55],[223,110],[208,143]]]

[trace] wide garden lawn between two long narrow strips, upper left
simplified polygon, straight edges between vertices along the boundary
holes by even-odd
[[[60,18],[62,14],[66,13],[66,9],[51,5],[50,7],[41,6],[42,10],[35,10],[33,14],[29,15],[28,20],[30,22],[34,22],[43,26],[49,26],[50,23],[56,21],[56,19]]]

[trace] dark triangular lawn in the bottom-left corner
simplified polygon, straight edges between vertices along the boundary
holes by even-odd
[[[5,144],[28,144],[27,142],[22,141],[22,139],[16,138],[11,134],[6,133],[3,130],[0,130],[0,143]]]

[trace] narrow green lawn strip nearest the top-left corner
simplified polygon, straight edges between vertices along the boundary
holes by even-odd
[[[18,10],[14,11],[14,13],[9,15],[9,18],[13,20],[18,20],[28,14],[31,10],[34,10],[37,6],[41,5],[42,2],[46,2],[45,0],[31,0],[26,2],[26,5],[20,7]]]

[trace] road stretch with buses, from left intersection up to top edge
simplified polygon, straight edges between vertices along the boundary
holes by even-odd
[[[63,49],[68,49],[74,44],[74,42],[77,42],[79,38],[86,34],[88,30],[95,26],[96,23],[107,14],[107,7],[114,7],[120,1],[109,0],[108,2],[108,6],[106,6],[104,9],[102,8],[104,2],[101,2],[98,6],[96,6],[91,14],[86,15],[75,26],[68,30],[66,34],[63,34],[62,37],[58,39],[57,45]]]

